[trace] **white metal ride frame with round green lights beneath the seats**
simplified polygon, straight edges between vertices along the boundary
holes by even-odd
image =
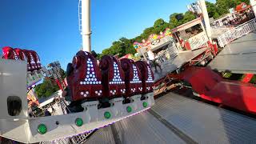
[[[127,104],[122,103],[123,98],[114,98],[110,100],[110,107],[98,109],[98,101],[85,102],[82,103],[84,111],[79,113],[29,118],[26,102],[26,62],[6,59],[0,59],[0,91],[0,135],[24,143],[53,141],[85,134],[138,114],[154,105],[153,93],[144,95],[145,100],[141,100],[142,95],[139,94],[130,97],[131,102]],[[10,116],[7,112],[6,100],[9,96],[22,99],[22,112],[18,116]],[[143,102],[147,102],[146,107]],[[126,106],[132,107],[130,113],[126,111]],[[104,117],[106,111],[110,112],[111,118]],[[76,118],[82,118],[82,126],[75,125]],[[46,134],[38,133],[39,124],[46,125]]]

